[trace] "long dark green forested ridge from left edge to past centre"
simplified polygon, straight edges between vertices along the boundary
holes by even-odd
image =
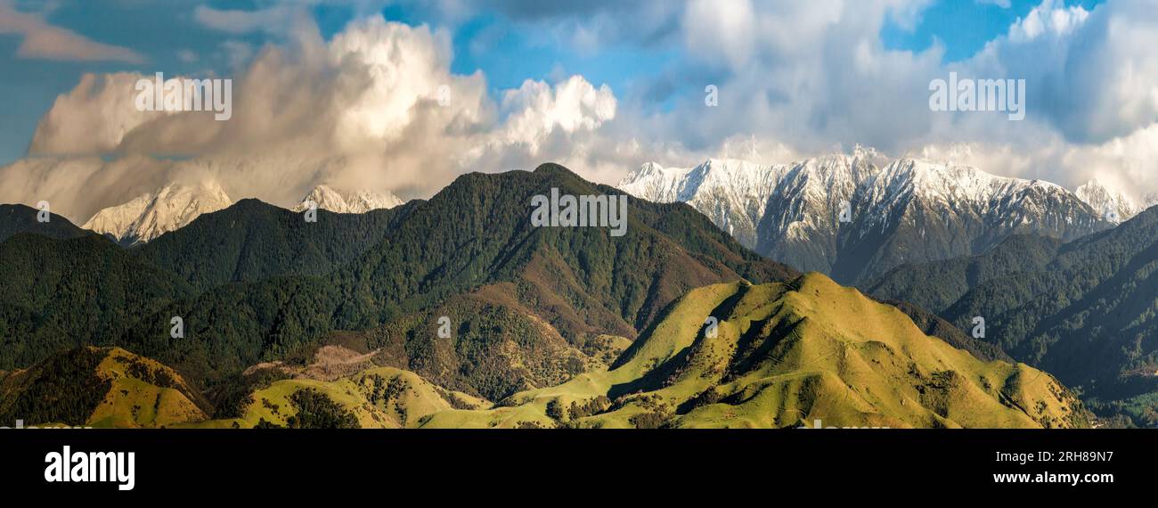
[[[569,362],[589,360],[574,356],[588,339],[633,338],[691,288],[796,275],[683,204],[632,198],[623,238],[599,227],[530,226],[530,197],[552,187],[620,194],[544,165],[533,173],[463,175],[430,201],[361,217],[320,213],[318,224],[305,224],[300,215],[244,201],[142,247],[117,251],[101,240],[88,257],[105,262],[79,270],[83,276],[25,281],[32,293],[76,286],[46,299],[52,319],[42,319],[39,300],[0,296],[2,315],[10,315],[3,340],[14,347],[0,351],[0,361],[39,360],[53,348],[29,342],[63,331],[85,338],[81,343],[156,358],[214,389],[252,364],[316,347],[336,331],[358,331],[369,347],[402,351],[384,356],[388,363],[426,375],[454,369],[447,379],[456,386],[498,397],[523,387],[514,383],[520,369],[543,383],[573,372]],[[24,266],[37,256],[23,242],[2,247]],[[43,262],[50,273],[76,263],[51,253]],[[95,297],[102,290],[137,284],[152,285],[125,305],[93,309],[104,302]],[[435,347],[425,325],[440,305],[463,312],[449,347]],[[101,324],[85,328],[90,315],[102,315]],[[169,336],[174,315],[184,319],[184,339]],[[10,350],[25,353],[17,361]]]

